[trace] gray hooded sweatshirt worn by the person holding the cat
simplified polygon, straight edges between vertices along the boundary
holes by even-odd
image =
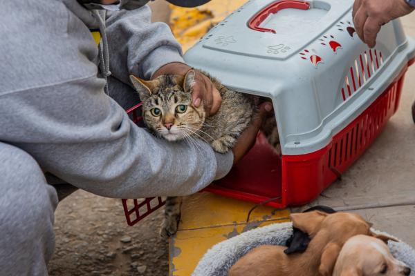
[[[129,99],[130,74],[149,79],[183,62],[168,26],[150,23],[145,2],[122,1],[128,10],[110,13],[75,0],[1,1],[0,143],[106,197],[188,195],[227,174],[232,153],[156,139],[112,98]],[[103,31],[104,23],[107,49],[98,50],[89,29]]]

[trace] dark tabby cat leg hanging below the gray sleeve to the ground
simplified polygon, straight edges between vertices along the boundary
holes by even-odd
[[[160,228],[160,236],[167,238],[176,234],[181,217],[181,204],[183,197],[167,197],[165,217]]]

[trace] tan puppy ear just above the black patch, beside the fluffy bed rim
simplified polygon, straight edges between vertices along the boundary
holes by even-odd
[[[293,226],[295,228],[313,236],[320,228],[323,219],[328,215],[329,214],[324,212],[312,211],[308,213],[293,213],[290,215],[290,218],[293,221]]]

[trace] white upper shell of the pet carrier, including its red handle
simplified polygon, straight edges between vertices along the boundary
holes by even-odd
[[[251,0],[214,26],[185,61],[240,92],[273,100],[282,152],[324,148],[415,57],[399,20],[360,41],[353,0]]]

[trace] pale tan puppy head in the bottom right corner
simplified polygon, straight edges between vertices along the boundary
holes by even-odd
[[[389,239],[396,241],[390,237]],[[411,269],[395,259],[385,242],[375,237],[357,235],[344,244],[333,276],[407,276]]]

